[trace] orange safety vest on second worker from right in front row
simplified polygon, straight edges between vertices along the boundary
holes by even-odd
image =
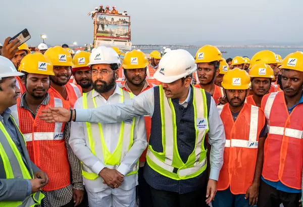
[[[265,125],[265,116],[261,108],[244,103],[234,122],[229,103],[226,103],[220,117],[226,142],[218,190],[230,187],[233,194],[245,194],[254,180],[258,141]]]

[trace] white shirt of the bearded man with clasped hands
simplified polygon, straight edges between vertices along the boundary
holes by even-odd
[[[116,85],[114,93],[109,97],[108,100],[106,100],[96,91],[93,91],[92,97],[95,98],[96,105],[100,107],[119,103],[121,95],[122,93],[120,88]],[[83,109],[82,101],[83,99],[80,97],[75,102],[74,109]],[[112,124],[102,123],[104,139],[107,148],[111,153],[115,151],[118,144],[120,128],[121,122]],[[144,117],[136,117],[133,136],[133,145],[117,168],[117,170],[123,175],[126,175],[132,171],[134,164],[138,161],[139,157],[147,146]],[[94,137],[94,139],[100,139],[100,137]],[[95,174],[98,174],[103,168],[106,167],[102,161],[94,156],[90,148],[87,146],[89,145],[89,142],[85,122],[73,122],[71,124],[71,137],[69,144],[79,160]],[[95,150],[97,151],[102,149],[95,148]],[[129,190],[138,184],[137,180],[137,174],[125,176],[124,181],[119,188]],[[85,188],[91,192],[99,192],[109,188],[107,184],[103,184],[103,179],[101,177],[98,177],[95,180],[88,180],[83,177],[83,182],[85,184]]]

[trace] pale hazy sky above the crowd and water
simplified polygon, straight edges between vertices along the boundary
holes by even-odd
[[[0,42],[24,28],[28,44],[92,43],[100,4],[131,16],[133,44],[303,44],[302,0],[2,0]]]

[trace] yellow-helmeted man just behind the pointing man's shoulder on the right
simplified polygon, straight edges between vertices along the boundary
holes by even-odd
[[[194,85],[194,87],[209,92],[216,104],[219,103],[219,98],[223,97],[223,88],[215,85],[215,77],[219,75],[221,60],[221,51],[212,45],[204,45],[198,49],[195,55],[199,84]]]

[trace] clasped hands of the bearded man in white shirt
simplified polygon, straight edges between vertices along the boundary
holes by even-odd
[[[124,175],[115,169],[104,168],[99,172],[99,176],[103,178],[103,183],[111,188],[118,188],[122,185]]]

